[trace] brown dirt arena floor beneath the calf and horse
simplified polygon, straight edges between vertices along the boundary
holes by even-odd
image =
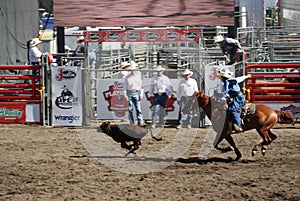
[[[277,125],[266,156],[211,149],[209,128],[155,129],[137,155],[88,128],[0,125],[0,200],[300,200],[300,125]],[[225,142],[223,145],[227,145]]]

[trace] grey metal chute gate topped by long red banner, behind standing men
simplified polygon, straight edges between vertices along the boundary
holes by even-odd
[[[143,74],[150,78],[157,65],[166,67],[166,75],[171,79],[181,76],[184,69],[192,69],[200,83],[201,43],[199,30],[185,29],[146,29],[146,30],[105,30],[84,32],[85,42],[100,43],[96,53],[96,61],[88,62],[84,72],[87,122],[95,119],[96,113],[96,81],[98,79],[114,79],[120,70],[122,61],[135,61]],[[101,45],[107,42],[121,43],[121,49],[104,50]],[[89,52],[87,52],[89,54]]]

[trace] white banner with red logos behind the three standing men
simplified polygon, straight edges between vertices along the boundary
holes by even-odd
[[[179,79],[170,79],[174,95],[167,100],[165,120],[178,119],[176,91]],[[144,119],[151,119],[152,97],[149,96],[151,79],[143,79],[143,99],[141,108]],[[120,79],[101,79],[97,81],[97,119],[128,119],[127,101],[124,97],[124,85]],[[134,109],[135,112],[135,109]],[[136,115],[134,114],[136,118]]]

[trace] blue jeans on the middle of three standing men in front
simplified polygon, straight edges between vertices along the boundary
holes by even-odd
[[[154,94],[152,124],[156,123],[159,110],[159,124],[164,124],[164,117],[166,115],[165,108],[167,103],[167,94],[163,93],[161,96]]]

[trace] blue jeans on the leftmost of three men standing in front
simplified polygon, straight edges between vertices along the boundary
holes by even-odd
[[[136,117],[138,120],[138,124],[143,124],[143,114],[141,110],[141,102],[138,92],[127,92],[128,95],[128,118],[130,121],[130,124],[134,124],[134,118],[133,118],[133,106],[135,107],[136,111]]]

